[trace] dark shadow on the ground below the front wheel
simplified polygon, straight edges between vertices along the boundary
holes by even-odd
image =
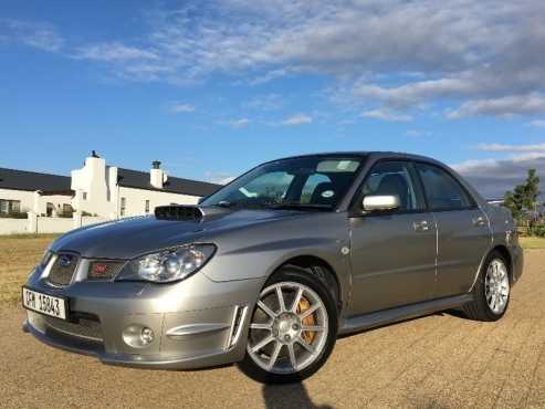
[[[268,409],[317,408],[333,409],[329,405],[315,405],[302,382],[289,385],[263,385],[263,400]]]

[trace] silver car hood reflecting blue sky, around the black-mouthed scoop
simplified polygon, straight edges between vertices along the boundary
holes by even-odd
[[[132,259],[169,247],[206,242],[214,232],[302,214],[289,210],[226,210],[200,221],[158,220],[154,216],[84,227],[60,237],[52,251],[74,251],[86,258]]]

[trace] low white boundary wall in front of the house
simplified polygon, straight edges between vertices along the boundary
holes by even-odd
[[[80,216],[72,218],[49,218],[29,213],[27,219],[0,218],[0,235],[9,234],[54,234],[65,233],[83,226],[108,221],[107,218]]]

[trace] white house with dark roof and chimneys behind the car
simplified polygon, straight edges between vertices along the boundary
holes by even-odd
[[[149,172],[107,166],[95,153],[72,177],[0,168],[0,213],[117,219],[151,213],[160,204],[193,204],[220,186],[168,177],[159,161]]]

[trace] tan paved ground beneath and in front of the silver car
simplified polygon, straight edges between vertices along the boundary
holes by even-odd
[[[436,314],[342,338],[301,385],[262,386],[235,366],[198,371],[111,367],[23,334],[0,312],[0,407],[545,408],[545,251],[526,251],[505,317]]]

